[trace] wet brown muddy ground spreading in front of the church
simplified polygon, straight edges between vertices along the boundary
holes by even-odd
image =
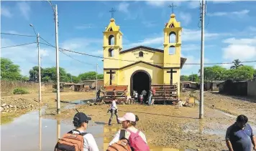
[[[94,93],[61,93],[62,100],[86,99],[95,96]],[[188,98],[190,92],[182,93],[182,98]],[[198,93],[193,94],[198,97]],[[205,94],[204,120],[198,120],[198,105],[195,107],[174,107],[171,105],[118,105],[119,115],[125,112],[134,112],[140,117],[137,127],[145,133],[151,146],[172,147],[192,150],[227,150],[224,135],[229,125],[240,114],[247,115],[253,127],[256,122],[252,121],[256,115],[256,99],[230,97],[206,92]],[[24,97],[24,96],[22,96]],[[25,96],[28,97],[28,96]],[[37,97],[37,95],[35,95]],[[83,97],[83,98],[79,98]],[[29,98],[29,97],[28,97]],[[75,109],[62,109],[61,115],[55,115],[55,94],[43,97],[47,102],[47,112],[44,117],[57,118],[71,121],[76,114]],[[249,100],[249,101],[248,101]],[[62,104],[62,107],[69,104]],[[85,112],[92,117],[92,122],[105,124],[106,129],[121,127],[113,120],[114,125],[109,127],[107,113],[108,105],[88,106],[77,105],[80,112]],[[225,114],[224,112],[230,115]],[[234,116],[232,116],[234,115]],[[256,128],[256,127],[255,127]],[[116,131],[104,134],[104,140],[111,140]]]

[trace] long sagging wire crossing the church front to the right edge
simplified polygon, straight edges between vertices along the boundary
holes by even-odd
[[[41,44],[44,44],[44,43],[41,43]],[[49,44],[45,44],[45,45],[53,47],[53,46],[51,46]],[[62,48],[60,48],[60,49],[63,50],[63,51],[66,51],[66,52],[73,52],[73,53],[76,53],[76,54],[83,54],[83,55],[86,55],[86,56],[89,56],[89,57],[97,57],[97,58],[101,58],[101,59],[113,59],[113,60],[119,60],[119,61],[125,61],[125,62],[138,62],[138,61],[134,61],[134,60],[106,58],[106,57],[95,56],[95,55],[92,55],[92,54],[85,54],[85,53],[82,53],[82,52],[75,52],[75,51],[68,50],[68,49],[62,49]],[[252,63],[252,62],[256,62],[256,60],[245,61],[245,62],[241,62],[241,63]],[[150,64],[165,64],[165,63],[155,63],[155,62],[147,62],[147,63],[150,63]],[[166,64],[170,64],[170,63],[166,63]],[[187,63],[186,65],[199,65],[199,64],[200,63]],[[234,63],[233,62],[216,62],[216,63],[205,63],[205,64],[216,65],[216,64],[234,64]]]

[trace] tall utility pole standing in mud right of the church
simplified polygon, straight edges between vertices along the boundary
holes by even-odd
[[[205,4],[202,0],[202,11],[201,11],[201,84],[200,84],[200,109],[199,109],[199,119],[204,118],[204,14],[205,14]]]

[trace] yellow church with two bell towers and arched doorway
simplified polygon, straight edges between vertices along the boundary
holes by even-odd
[[[140,94],[154,84],[177,84],[179,96],[180,69],[186,62],[186,58],[180,57],[181,31],[180,22],[171,14],[163,29],[163,49],[123,49],[120,26],[110,19],[103,32],[104,85],[128,85],[128,95],[132,96],[132,90]]]

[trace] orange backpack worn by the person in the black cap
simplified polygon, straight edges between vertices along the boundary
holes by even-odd
[[[78,130],[73,130],[79,132]],[[55,145],[55,151],[83,151],[83,136],[87,132],[73,134],[72,130],[65,134]]]

